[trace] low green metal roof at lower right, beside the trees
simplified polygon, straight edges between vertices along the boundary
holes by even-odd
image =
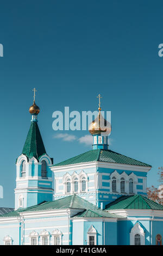
[[[153,202],[147,197],[140,196],[122,196],[116,199],[114,202],[106,205],[105,210],[117,210],[117,209],[153,209],[163,210],[163,205]]]

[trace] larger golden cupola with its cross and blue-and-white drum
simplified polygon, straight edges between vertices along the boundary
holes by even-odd
[[[97,97],[99,99],[99,112],[97,118],[90,123],[89,132],[93,136],[93,149],[108,149],[108,135],[110,135],[111,132],[111,124],[104,119],[101,113],[101,95],[99,94]]]

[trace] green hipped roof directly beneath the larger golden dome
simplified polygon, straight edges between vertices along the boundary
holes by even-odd
[[[132,159],[131,157],[116,153],[112,150],[105,150],[105,149],[93,149],[93,150],[87,151],[86,153],[80,154],[78,156],[74,156],[71,159],[54,164],[54,166],[65,166],[68,164],[85,163],[85,162],[93,162],[93,161],[133,164],[136,166],[151,167],[147,163],[143,163],[135,159]]]

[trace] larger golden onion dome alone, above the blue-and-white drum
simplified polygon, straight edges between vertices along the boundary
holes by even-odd
[[[104,132],[105,135],[108,136],[111,132],[111,124],[103,118],[100,107],[98,108],[98,110],[99,112],[97,118],[93,120],[92,123],[90,123],[89,132],[92,135]]]

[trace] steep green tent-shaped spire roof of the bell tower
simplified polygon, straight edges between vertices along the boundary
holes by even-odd
[[[26,155],[29,159],[33,156],[39,159],[41,155],[46,154],[37,122],[31,122],[22,154]]]

